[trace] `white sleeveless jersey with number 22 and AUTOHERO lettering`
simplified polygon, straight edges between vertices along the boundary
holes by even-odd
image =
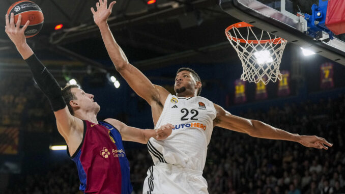
[[[213,102],[204,97],[184,98],[169,94],[155,128],[170,123],[175,129],[164,141],[150,138],[148,149],[154,163],[202,172],[216,115]]]

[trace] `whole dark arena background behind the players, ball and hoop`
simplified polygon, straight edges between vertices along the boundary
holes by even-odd
[[[0,2],[4,25],[7,8],[14,2]],[[94,94],[101,106],[100,120],[116,118],[130,126],[152,128],[150,106],[109,60],[90,11],[97,1],[34,2],[45,23],[40,34],[27,41],[60,85],[74,78]],[[306,13],[317,2],[293,1]],[[265,90],[245,82],[245,89],[236,92],[242,67],[224,34],[235,22],[217,1],[157,0],[147,5],[145,0],[131,0],[118,1],[108,23],[130,63],[154,84],[173,92],[177,69],[190,67],[202,79],[201,95],[232,114],[323,136],[334,144],[327,151],[309,149],[215,128],[203,174],[210,193],[345,193],[345,67],[317,55],[305,57],[288,43],[280,65],[289,72],[283,88],[279,81],[270,82]],[[60,23],[64,27],[54,30]],[[49,149],[64,145],[49,104],[4,25],[0,25],[0,193],[78,193],[75,164],[66,151]],[[119,88],[108,80],[111,75]],[[125,148],[133,193],[141,193],[151,157],[145,145],[125,143]]]

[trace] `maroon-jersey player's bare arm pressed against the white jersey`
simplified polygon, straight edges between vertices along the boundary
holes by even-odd
[[[123,141],[138,142],[141,144],[147,144],[151,137],[156,140],[165,140],[174,128],[174,125],[165,124],[158,129],[139,129],[127,126],[116,119],[106,119],[104,121],[110,123],[119,130]]]

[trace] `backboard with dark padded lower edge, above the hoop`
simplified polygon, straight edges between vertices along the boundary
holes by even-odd
[[[307,22],[294,13],[296,6],[290,0],[220,0],[220,7],[241,21],[345,65],[345,42],[329,39],[327,33],[320,39],[307,35]]]

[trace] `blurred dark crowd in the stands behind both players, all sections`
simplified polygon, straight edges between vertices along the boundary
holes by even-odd
[[[22,122],[27,130],[46,128],[52,123],[49,121],[51,117],[46,117],[49,104],[39,90],[26,84],[10,78],[0,83],[0,90],[5,91],[0,96],[2,125],[20,125]],[[27,103],[33,100],[38,103]],[[333,147],[329,150],[311,149],[295,142],[265,140],[215,128],[203,174],[210,193],[345,193],[342,133],[345,96],[270,107],[266,112],[249,110],[239,116],[292,133],[325,137]],[[143,180],[152,165],[151,156],[142,148],[126,149],[126,154],[131,165],[133,193],[141,194]],[[76,167],[71,160],[54,164],[49,172],[17,178],[16,184],[9,185],[4,193],[81,193]]]

